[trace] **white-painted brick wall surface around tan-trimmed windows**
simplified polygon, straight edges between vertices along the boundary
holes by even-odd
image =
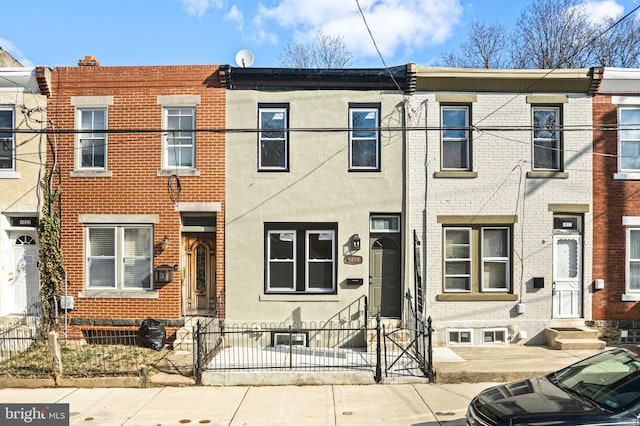
[[[525,130],[476,130],[472,135],[475,178],[436,178],[440,170],[440,132],[411,131],[408,135],[407,215],[423,247],[425,314],[436,328],[436,344],[444,344],[447,328],[474,329],[480,344],[482,328],[507,327],[512,342],[544,343],[544,327],[552,317],[553,212],[550,204],[588,205],[583,222],[583,317],[591,317],[591,98],[568,94],[562,106],[564,171],[566,179],[528,178],[532,170],[531,104],[527,94],[477,93],[472,104],[478,128],[515,126]],[[544,94],[535,94],[544,95]],[[555,94],[557,96],[557,94]],[[411,99],[409,126],[437,128],[440,105],[433,93]],[[426,186],[426,188],[425,188]],[[442,293],[443,225],[439,215],[517,215],[513,225],[512,284],[516,301],[438,301]],[[426,219],[425,219],[426,217]],[[425,233],[426,225],[426,233]],[[544,277],[534,289],[533,277]],[[523,303],[526,312],[518,314]],[[578,320],[579,322],[579,320]],[[517,339],[524,331],[526,338]]]

